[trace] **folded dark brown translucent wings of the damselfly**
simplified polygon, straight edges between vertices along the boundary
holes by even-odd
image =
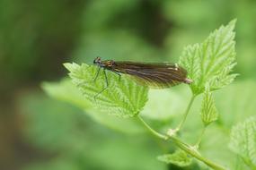
[[[181,82],[190,83],[187,72],[178,64],[140,64],[132,62],[115,62],[115,72],[131,75],[140,84],[151,88],[163,89]]]

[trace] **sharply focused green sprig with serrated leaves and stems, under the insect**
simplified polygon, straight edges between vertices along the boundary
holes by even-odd
[[[171,129],[166,135],[155,132],[142,117],[138,117],[138,120],[146,126],[149,132],[163,140],[172,140],[182,149],[172,155],[159,157],[160,160],[178,166],[188,166],[190,165],[190,158],[185,159],[183,156],[190,155],[214,169],[225,169],[225,167],[217,165],[206,157],[202,157],[197,149],[191,149],[192,146],[174,136],[185,123],[194,98],[204,90],[201,107],[202,121],[205,126],[216,121],[216,106],[210,90],[225,87],[225,85],[234,81],[236,76],[236,74],[230,74],[235,64],[234,23],[235,21],[231,21],[227,26],[222,26],[219,30],[210,34],[202,44],[184,49],[180,64],[188,69],[188,76],[193,80],[190,85],[193,96],[184,118],[176,130]],[[188,49],[190,49],[189,52]],[[119,76],[114,72],[107,72],[95,66],[88,66],[87,64],[65,64],[65,66],[70,72],[69,76],[80,89],[84,98],[90,101],[91,105],[97,106],[101,112],[123,117],[138,116],[146,104],[148,89],[137,85],[126,75],[122,76],[120,81]],[[199,146],[202,136],[203,133],[199,137],[196,146]]]

